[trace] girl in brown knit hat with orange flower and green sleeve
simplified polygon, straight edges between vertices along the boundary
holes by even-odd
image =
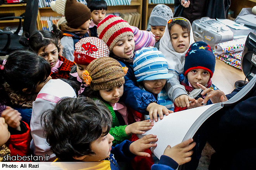
[[[83,72],[83,80],[87,85],[90,85],[90,89],[85,94],[88,97],[101,99],[112,114],[112,128],[109,133],[114,136],[114,145],[129,139],[132,133],[145,133],[154,125],[149,121],[135,122],[128,125],[126,106],[118,103],[123,95],[124,76],[124,68],[118,61],[110,57],[93,60]]]

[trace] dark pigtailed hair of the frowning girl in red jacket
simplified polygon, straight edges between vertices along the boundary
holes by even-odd
[[[49,44],[55,44],[58,51],[59,48],[59,38],[61,37],[61,30],[57,29],[57,26],[53,24],[52,31],[42,30],[36,31],[33,35],[29,37],[29,34],[26,33],[25,37],[19,39],[19,43],[23,46],[31,48],[33,51],[38,53],[39,49],[46,47]],[[44,51],[45,49],[43,49]]]

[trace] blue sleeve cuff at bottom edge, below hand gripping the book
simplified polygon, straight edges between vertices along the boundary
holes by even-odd
[[[169,156],[162,155],[158,164],[154,164],[151,170],[175,170],[178,168],[178,163]]]

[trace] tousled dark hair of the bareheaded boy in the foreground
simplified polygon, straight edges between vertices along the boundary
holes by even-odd
[[[51,150],[63,162],[73,156],[94,154],[90,144],[109,133],[112,116],[100,100],[87,97],[63,98],[41,117]]]

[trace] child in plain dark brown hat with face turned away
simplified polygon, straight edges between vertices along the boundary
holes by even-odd
[[[91,23],[91,12],[83,3],[76,0],[67,0],[65,17],[67,24],[59,26],[64,36],[61,39],[63,56],[70,61],[74,61],[74,45],[80,39],[89,37],[87,30]]]

